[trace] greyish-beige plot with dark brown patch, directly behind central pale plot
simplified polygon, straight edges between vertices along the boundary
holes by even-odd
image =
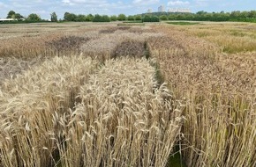
[[[162,36],[161,33],[148,33],[147,31],[138,35],[137,33],[129,32],[129,30],[117,30],[115,33],[107,33],[103,35],[100,33],[97,35],[97,38],[89,40],[81,47],[82,53],[93,59],[98,59],[101,62],[115,58],[117,57],[117,54],[120,54],[121,56],[124,54],[126,54],[124,56],[132,54],[132,56],[134,56],[137,52],[139,55],[136,56],[140,57],[144,54],[147,55],[147,46],[143,43],[147,42],[151,37]],[[132,45],[130,40],[138,44],[138,46]],[[124,44],[122,44],[122,42],[124,42]],[[121,49],[118,49],[118,47],[121,47]],[[124,51],[122,49],[124,49]]]

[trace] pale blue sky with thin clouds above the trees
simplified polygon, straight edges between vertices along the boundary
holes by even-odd
[[[58,18],[63,18],[65,11],[75,14],[133,15],[147,12],[148,9],[157,11],[160,5],[164,5],[166,10],[189,8],[192,12],[256,10],[255,0],[0,0],[0,18],[5,18],[11,10],[25,17],[37,13],[45,19],[53,11],[56,11]]]

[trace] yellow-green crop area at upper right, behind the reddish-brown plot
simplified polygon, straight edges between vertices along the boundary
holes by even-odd
[[[183,31],[187,36],[197,36],[210,41],[224,53],[236,54],[256,51],[256,26],[254,24],[201,24],[172,27],[173,31]]]

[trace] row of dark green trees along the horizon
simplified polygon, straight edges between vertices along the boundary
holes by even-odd
[[[14,18],[17,22],[43,22],[49,21],[41,19],[41,17],[35,13],[29,14],[26,18],[16,13],[15,11],[9,11],[7,18]],[[255,22],[256,23],[256,11],[231,11],[231,12],[207,12],[198,11],[197,13],[179,13],[179,12],[154,12],[145,13],[139,15],[126,16],[124,14],[119,15],[99,15],[99,14],[74,14],[70,12],[64,13],[63,19],[58,19],[56,12],[50,14],[50,21],[62,22],[62,21],[74,21],[74,22],[110,22],[110,21],[141,21],[141,22],[158,22],[160,20],[192,20],[192,21],[241,21],[241,22]]]

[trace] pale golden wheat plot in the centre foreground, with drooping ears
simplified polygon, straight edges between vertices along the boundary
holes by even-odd
[[[146,60],[119,59],[81,87],[81,104],[64,120],[64,166],[164,166],[181,126],[180,106],[154,84]]]

